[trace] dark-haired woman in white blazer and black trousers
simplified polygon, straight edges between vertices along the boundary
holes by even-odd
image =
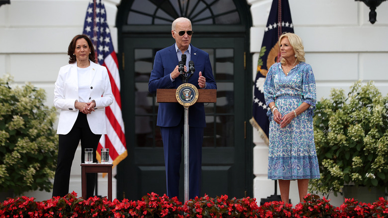
[[[59,70],[54,90],[54,106],[61,109],[57,169],[53,197],[69,193],[70,171],[81,140],[82,151],[96,150],[102,134],[106,134],[105,110],[112,104],[113,94],[105,67],[95,64],[95,49],[87,35],[76,35],[68,48],[69,64]],[[81,153],[84,163],[84,152]],[[94,195],[96,174],[87,175],[87,198]]]

